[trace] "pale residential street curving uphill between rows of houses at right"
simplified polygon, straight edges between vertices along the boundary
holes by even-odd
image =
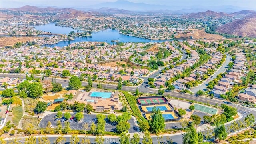
[[[197,86],[195,88],[192,88],[191,91],[196,93],[198,90],[204,90],[207,91],[206,87],[208,86],[208,83],[213,80],[214,78],[217,77],[218,74],[223,73],[226,70],[226,67],[228,66],[228,64],[231,61],[231,56],[230,55],[226,55],[226,61],[224,62],[224,64],[220,67],[220,69],[215,72],[215,74],[209,78],[209,80],[206,80],[201,86]]]

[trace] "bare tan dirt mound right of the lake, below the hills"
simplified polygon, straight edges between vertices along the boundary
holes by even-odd
[[[200,39],[200,38],[207,38],[207,39],[221,39],[223,38],[223,36],[220,36],[218,34],[208,34],[206,32],[204,32],[204,30],[197,30],[197,29],[190,29],[193,32],[192,33],[188,33],[188,34],[178,34],[176,37],[177,38],[191,38],[191,36],[194,39]]]

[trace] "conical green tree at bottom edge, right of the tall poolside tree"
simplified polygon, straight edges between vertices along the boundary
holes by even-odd
[[[186,133],[183,134],[182,140],[183,144],[199,144],[198,133],[193,125],[186,129]]]

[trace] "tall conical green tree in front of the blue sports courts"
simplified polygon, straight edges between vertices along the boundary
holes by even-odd
[[[162,130],[164,130],[165,127],[164,117],[162,116],[160,109],[156,109],[155,106],[152,109],[151,118],[149,120],[149,126],[150,130],[152,130],[152,132],[155,133],[162,132]]]

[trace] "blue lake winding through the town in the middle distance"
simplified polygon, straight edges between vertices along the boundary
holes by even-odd
[[[54,23],[44,24],[44,25],[33,25],[33,26],[36,28],[36,30],[51,32],[53,34],[68,34],[70,31],[77,32],[76,29],[66,27],[66,26],[56,26]],[[86,41],[112,43],[111,40],[119,40],[119,42],[164,42],[166,41],[166,40],[149,40],[145,38],[138,38],[135,36],[120,34],[118,30],[106,29],[106,30],[100,30],[98,32],[92,32],[91,36],[76,37],[74,38],[74,40],[61,41],[61,42],[58,42],[57,44],[46,45],[46,46],[62,47],[75,42],[86,42]],[[179,39],[179,40],[182,40],[182,39]],[[172,40],[168,40],[168,41],[172,41]]]

